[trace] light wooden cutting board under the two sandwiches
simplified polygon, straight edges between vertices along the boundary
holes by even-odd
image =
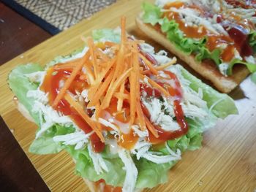
[[[75,164],[67,153],[34,155],[28,152],[36,126],[15,109],[13,94],[7,85],[7,75],[18,64],[47,64],[57,55],[67,55],[83,46],[81,36],[87,37],[97,28],[116,28],[121,15],[127,17],[127,31],[147,39],[135,26],[135,16],[142,1],[120,0],[113,6],[83,20],[69,30],[48,39],[12,61],[0,66],[0,114],[12,130],[26,155],[51,191],[89,191],[83,180],[75,175]],[[170,171],[165,185],[146,191],[254,191],[256,189],[256,85],[249,78],[231,94],[239,115],[219,120],[215,128],[204,133],[203,148],[182,155]],[[22,169],[22,168],[20,168]],[[154,177],[154,175],[152,175]]]

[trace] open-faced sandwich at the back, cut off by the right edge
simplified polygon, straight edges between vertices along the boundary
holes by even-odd
[[[229,93],[256,72],[256,9],[251,1],[157,0],[143,4],[136,22],[219,91]]]

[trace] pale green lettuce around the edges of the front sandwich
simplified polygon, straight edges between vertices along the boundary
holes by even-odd
[[[109,35],[111,34],[109,32],[106,33]],[[100,33],[97,32],[96,34],[96,38],[102,39],[105,35],[105,31],[102,30]],[[116,34],[111,35],[115,36],[115,38],[118,36],[116,36]],[[109,38],[111,39],[113,37]],[[30,67],[32,66],[26,67],[30,69]],[[192,89],[194,89],[195,91],[198,91],[198,88],[203,89],[203,99],[207,101],[208,107],[211,107],[213,104],[216,104],[212,108],[211,112],[209,112],[208,120],[203,122],[197,119],[188,119],[189,131],[187,135],[167,142],[171,149],[179,149],[183,152],[185,150],[196,150],[200,148],[202,141],[202,132],[204,128],[206,128],[207,126],[211,127],[212,125],[214,125],[216,117],[225,118],[227,115],[236,114],[237,110],[236,106],[234,105],[232,99],[230,99],[229,96],[214,91],[213,88],[203,84],[203,82],[198,80],[196,77],[192,76],[192,74],[189,74],[189,72],[187,72],[187,70],[185,70],[181,66],[177,67],[181,69],[181,74],[184,76],[184,78],[192,82],[190,85]],[[34,69],[31,70],[31,72],[35,72],[37,70],[42,69]],[[28,70],[28,73],[29,72],[30,71]],[[26,102],[26,100],[28,100],[26,99],[26,92],[29,89],[36,89],[37,85],[33,85],[31,87],[28,85],[28,88],[25,85],[20,85],[23,83],[29,84],[30,82],[28,82],[27,78],[23,80],[23,71],[18,71],[18,74],[15,75],[22,77],[22,81],[15,81],[15,85],[12,85],[12,91],[14,93],[20,93],[20,96],[18,96],[18,98],[24,97],[24,99],[20,99],[21,103]],[[17,91],[17,89],[20,89],[20,86],[23,90]],[[25,86],[25,88],[23,88],[23,86]],[[31,109],[32,103],[31,101],[29,101],[29,103],[29,107]],[[89,156],[86,147],[83,150],[75,150],[74,146],[61,145],[61,142],[53,143],[52,138],[54,136],[59,134],[68,134],[71,133],[72,131],[74,131],[74,128],[72,127],[67,128],[55,125],[52,128],[50,128],[47,132],[45,132],[45,134],[43,134],[40,139],[36,139],[29,150],[32,153],[40,154],[58,153],[62,149],[67,150],[67,152],[76,162],[76,173],[79,174],[81,177],[86,177],[91,181],[104,179],[106,183],[108,183],[109,185],[121,186],[124,182],[124,177],[126,174],[125,170],[123,169],[124,164],[122,163],[118,155],[110,155],[110,153],[108,153],[107,147],[105,147],[105,151],[102,153],[102,158],[104,158],[105,163],[108,166],[109,172],[97,174],[97,172],[95,172],[94,165],[92,163],[92,160]],[[159,151],[161,151],[163,154],[167,154],[167,149],[165,147]],[[168,170],[170,169],[170,167],[176,164],[176,161],[171,161],[168,164],[154,164],[153,162],[147,161],[144,158],[141,158],[140,161],[137,161],[134,158],[134,161],[138,169],[138,180],[136,183],[137,188],[152,188],[160,183],[165,183],[167,181]],[[152,177],[152,175],[154,177]]]

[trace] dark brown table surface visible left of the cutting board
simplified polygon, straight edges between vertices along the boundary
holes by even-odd
[[[0,65],[50,37],[0,1]],[[0,191],[49,191],[1,116]]]

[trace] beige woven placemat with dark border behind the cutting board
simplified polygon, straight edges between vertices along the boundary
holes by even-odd
[[[89,18],[116,0],[3,0],[21,15],[29,18],[50,34],[56,34]]]

